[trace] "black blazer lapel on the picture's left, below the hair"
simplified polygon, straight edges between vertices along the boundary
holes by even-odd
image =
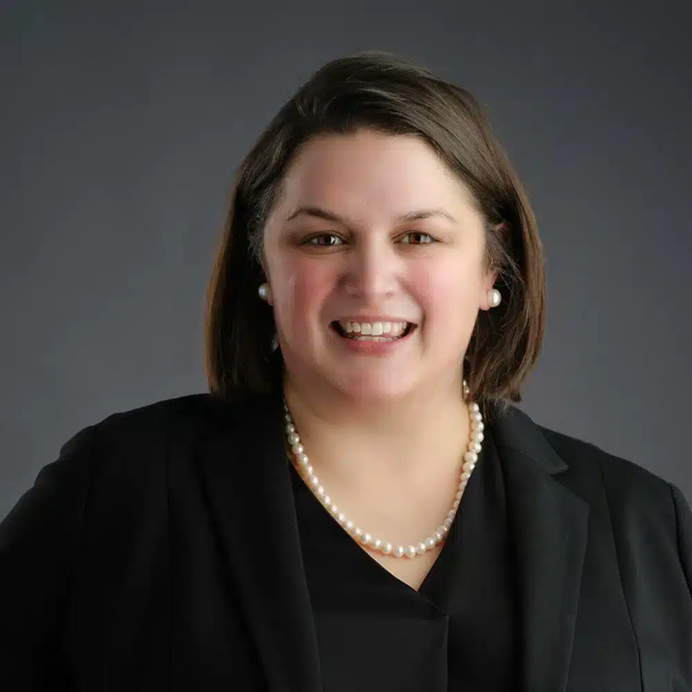
[[[214,406],[199,468],[270,689],[321,692],[281,399]]]

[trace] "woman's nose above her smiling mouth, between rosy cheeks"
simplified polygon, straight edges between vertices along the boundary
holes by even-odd
[[[348,254],[343,285],[349,295],[376,303],[397,289],[401,259],[389,239],[372,235]]]

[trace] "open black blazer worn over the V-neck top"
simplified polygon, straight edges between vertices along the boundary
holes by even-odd
[[[0,689],[318,692],[282,428],[193,394],[67,441],[0,525]],[[680,490],[518,408],[493,435],[520,689],[692,690]]]

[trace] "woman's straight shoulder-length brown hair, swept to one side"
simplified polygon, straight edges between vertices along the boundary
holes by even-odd
[[[479,311],[466,350],[470,397],[486,415],[521,401],[545,329],[543,249],[529,200],[489,118],[468,91],[389,53],[333,60],[271,120],[239,167],[207,294],[205,367],[210,394],[235,399],[277,380],[263,234],[289,163],[310,138],[359,128],[420,137],[473,193],[485,219],[486,262],[498,270],[499,307]],[[279,363],[281,365],[281,362]]]

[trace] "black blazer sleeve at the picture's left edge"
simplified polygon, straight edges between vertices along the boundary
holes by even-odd
[[[69,689],[62,656],[93,426],[60,448],[0,524],[0,687]]]

